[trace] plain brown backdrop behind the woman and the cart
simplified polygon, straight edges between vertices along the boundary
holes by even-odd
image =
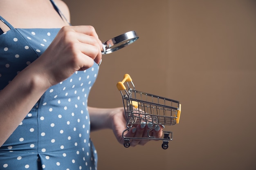
[[[106,41],[135,30],[139,40],[104,55],[90,106],[122,106],[116,83],[179,100],[173,141],[124,148],[110,130],[92,132],[98,170],[256,169],[256,1],[64,0],[73,25]]]

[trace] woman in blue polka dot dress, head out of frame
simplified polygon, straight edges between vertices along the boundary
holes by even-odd
[[[102,43],[92,26],[69,23],[61,0],[0,1],[1,170],[97,169],[91,130],[110,128],[123,144],[124,109],[87,106]]]

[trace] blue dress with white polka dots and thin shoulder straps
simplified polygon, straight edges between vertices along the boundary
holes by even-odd
[[[0,34],[1,90],[40,57],[59,29],[15,29],[0,19],[10,28]],[[77,71],[40,97],[0,147],[0,170],[97,169],[87,100],[98,70],[95,63],[86,71]]]

